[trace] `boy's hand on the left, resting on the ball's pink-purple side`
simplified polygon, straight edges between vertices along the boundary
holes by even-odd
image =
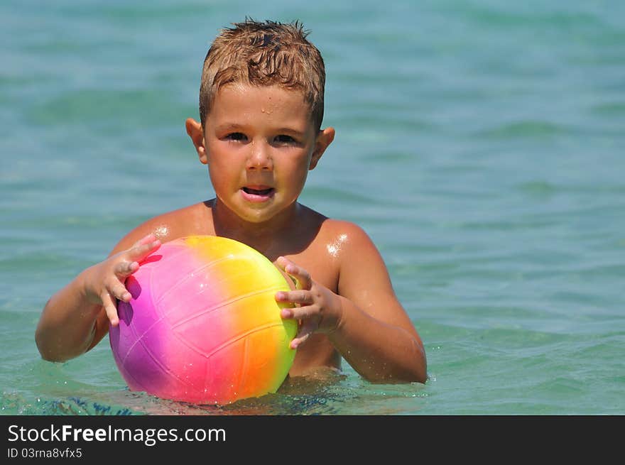
[[[139,262],[160,246],[161,241],[154,234],[148,234],[131,248],[88,268],[85,295],[89,301],[104,307],[112,326],[119,324],[116,300],[129,302],[132,298],[126,289],[126,278],[139,269]]]

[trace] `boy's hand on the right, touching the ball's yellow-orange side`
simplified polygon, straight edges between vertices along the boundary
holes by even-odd
[[[314,332],[330,333],[339,326],[342,305],[340,297],[323,285],[315,283],[304,268],[288,258],[279,257],[276,266],[295,278],[295,290],[277,292],[277,302],[292,302],[293,308],[283,308],[281,317],[300,320],[300,328],[291,349],[297,349]]]

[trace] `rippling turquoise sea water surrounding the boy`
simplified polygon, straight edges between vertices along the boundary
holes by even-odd
[[[392,7],[391,7],[392,4]],[[428,354],[226,407],[130,393],[104,339],[41,361],[40,310],[126,231],[212,197],[184,120],[217,30],[300,19],[337,138],[303,203],[356,221]],[[3,414],[625,412],[625,4],[0,4]]]

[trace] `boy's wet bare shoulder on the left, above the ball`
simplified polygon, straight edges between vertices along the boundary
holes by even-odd
[[[158,214],[144,221],[126,234],[111,253],[131,247],[148,234],[154,234],[163,243],[194,234],[214,234],[207,202]]]

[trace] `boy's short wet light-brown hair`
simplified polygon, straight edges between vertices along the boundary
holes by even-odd
[[[298,23],[246,20],[215,38],[204,61],[200,120],[205,127],[214,97],[224,85],[279,85],[302,92],[319,131],[323,119],[325,66],[308,33]]]

